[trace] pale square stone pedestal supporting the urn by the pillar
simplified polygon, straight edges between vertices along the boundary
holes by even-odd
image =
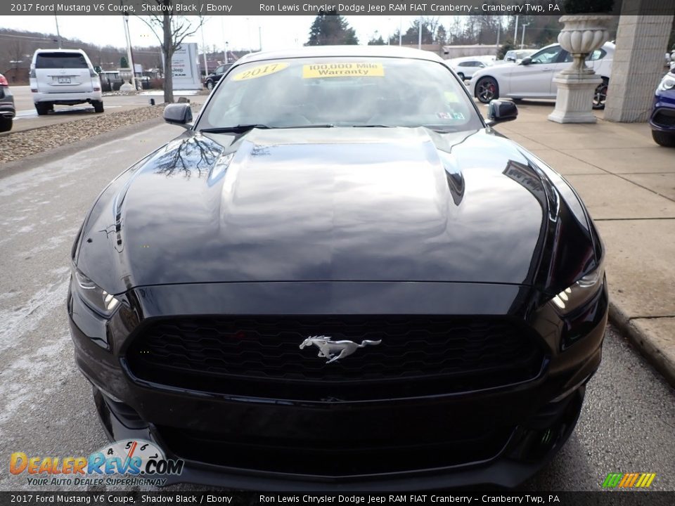
[[[553,77],[558,85],[555,109],[548,119],[556,123],[595,123],[593,95],[603,79],[596,74],[564,74]]]

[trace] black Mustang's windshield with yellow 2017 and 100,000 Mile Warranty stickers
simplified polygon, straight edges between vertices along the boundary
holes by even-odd
[[[297,58],[245,63],[223,78],[198,129],[240,125],[483,127],[444,65],[406,58]]]

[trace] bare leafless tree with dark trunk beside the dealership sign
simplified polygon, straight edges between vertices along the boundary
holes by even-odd
[[[196,22],[191,22],[188,16],[174,15],[174,0],[155,0],[162,6],[161,15],[148,15],[138,18],[150,27],[155,37],[160,42],[162,54],[164,55],[164,101],[173,103],[174,101],[174,77],[171,68],[171,60],[186,37],[190,37],[197,32],[204,24],[205,19],[202,16],[191,16]],[[148,19],[146,19],[148,18]]]

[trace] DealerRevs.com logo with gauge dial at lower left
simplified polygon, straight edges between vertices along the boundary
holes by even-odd
[[[9,472],[27,474],[31,486],[155,485],[183,472],[184,460],[167,459],[150,441],[115,441],[89,457],[41,457],[12,453]]]

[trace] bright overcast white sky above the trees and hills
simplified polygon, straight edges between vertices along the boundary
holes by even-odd
[[[414,16],[345,16],[349,26],[356,30],[361,44],[379,31],[383,39],[399,27],[399,22],[405,32],[416,18]],[[441,16],[441,22],[446,27],[453,16]],[[77,38],[91,44],[101,46],[113,45],[124,47],[124,21],[122,15],[60,15],[58,27],[62,37]],[[230,49],[257,50],[259,33],[262,35],[262,48],[271,49],[292,48],[302,46],[309,37],[309,27],[314,20],[313,15],[258,15],[250,18],[244,16],[212,16],[207,18],[204,25],[205,44],[209,47],[224,48],[225,41],[229,42]],[[56,20],[53,15],[30,16],[2,16],[0,27],[15,30],[30,30],[56,34]],[[260,30],[259,30],[260,29]],[[158,45],[157,39],[150,32],[142,20],[131,16],[129,31],[134,46]],[[197,42],[202,46],[201,33],[187,39],[188,42]]]

